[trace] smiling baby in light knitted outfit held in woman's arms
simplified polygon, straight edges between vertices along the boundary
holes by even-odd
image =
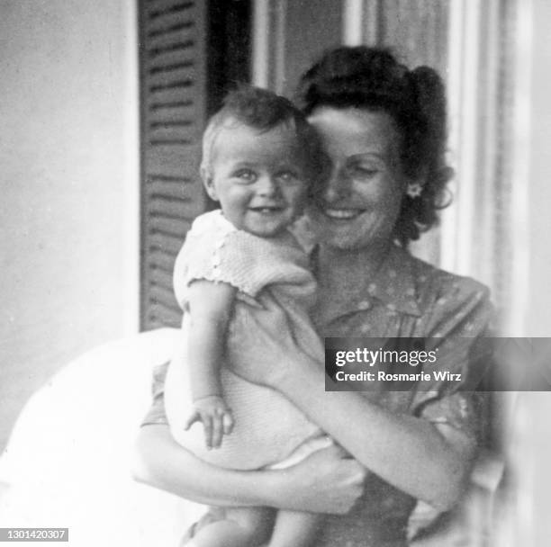
[[[234,344],[242,336],[254,340],[247,319],[272,300],[285,309],[303,350],[321,362],[308,316],[316,284],[289,230],[320,166],[319,141],[303,114],[266,90],[229,94],[203,135],[203,184],[221,210],[194,221],[176,259],[183,336],[167,373],[166,408],[176,441],[207,462],[284,468],[331,442],[280,393],[232,373],[226,351],[228,336]],[[319,525],[312,514],[239,507],[192,543],[307,547]]]

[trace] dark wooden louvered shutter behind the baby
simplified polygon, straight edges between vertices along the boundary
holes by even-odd
[[[203,0],[140,0],[141,328],[179,326],[176,254],[206,197],[198,177],[206,117]]]

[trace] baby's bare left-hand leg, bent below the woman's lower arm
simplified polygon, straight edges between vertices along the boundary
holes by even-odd
[[[266,507],[236,507],[226,518],[202,528],[187,547],[260,547],[267,543],[274,525],[274,510]]]

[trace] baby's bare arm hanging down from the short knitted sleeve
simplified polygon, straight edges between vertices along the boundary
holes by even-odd
[[[208,448],[218,448],[233,427],[230,408],[222,399],[220,366],[236,288],[225,282],[196,280],[189,286],[189,367],[194,411],[185,428],[202,422]]]

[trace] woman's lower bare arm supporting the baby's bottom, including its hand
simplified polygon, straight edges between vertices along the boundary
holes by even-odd
[[[196,458],[165,425],[142,426],[134,477],[205,505],[268,506],[345,514],[363,491],[365,469],[332,446],[282,471],[232,471]]]

